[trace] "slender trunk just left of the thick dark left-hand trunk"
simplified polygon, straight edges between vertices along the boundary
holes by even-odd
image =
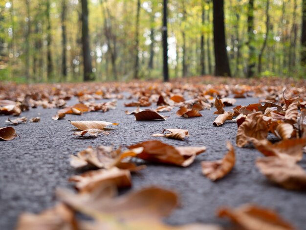
[[[66,34],[66,0],[62,0],[62,74],[67,79],[67,34]]]

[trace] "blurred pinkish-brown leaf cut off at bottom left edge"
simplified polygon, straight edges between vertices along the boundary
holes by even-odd
[[[17,230],[77,230],[74,212],[64,204],[58,204],[40,214],[22,213]]]

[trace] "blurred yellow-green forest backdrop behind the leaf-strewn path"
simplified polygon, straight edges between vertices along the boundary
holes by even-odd
[[[0,0],[0,80],[161,79],[163,2]],[[168,0],[170,78],[305,77],[306,0],[224,1],[222,45],[216,2]]]

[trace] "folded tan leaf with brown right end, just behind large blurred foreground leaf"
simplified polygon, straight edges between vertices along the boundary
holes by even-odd
[[[114,184],[119,187],[131,187],[131,173],[117,167],[88,171],[69,178],[76,182],[75,187],[81,192],[91,192],[103,184]]]

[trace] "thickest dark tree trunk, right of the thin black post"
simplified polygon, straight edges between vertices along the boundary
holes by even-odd
[[[231,76],[225,44],[224,29],[224,0],[213,0],[214,5],[214,47],[215,47],[215,75]]]

